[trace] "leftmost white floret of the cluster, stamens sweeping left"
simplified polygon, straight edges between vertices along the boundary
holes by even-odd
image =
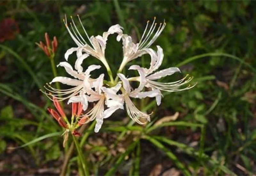
[[[62,84],[67,84],[70,86],[74,86],[70,89],[56,89],[48,84],[48,87],[45,86],[45,89],[50,93],[44,92],[50,99],[54,96],[56,100],[63,101],[66,99],[68,103],[70,102],[81,102],[83,105],[83,110],[86,110],[88,107],[88,100],[86,93],[92,88],[94,79],[90,78],[90,72],[99,69],[100,65],[90,65],[85,72],[83,72],[83,68],[81,67],[81,60],[76,60],[75,68],[77,71],[73,70],[72,66],[68,62],[60,62],[57,66],[64,67],[67,73],[73,76],[76,79],[57,76],[52,79],[50,84],[54,82],[60,82]]]

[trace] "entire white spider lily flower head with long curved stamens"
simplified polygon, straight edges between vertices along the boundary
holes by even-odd
[[[82,25],[79,17],[78,19]],[[136,108],[132,103],[131,98],[142,99],[145,97],[155,97],[156,103],[159,106],[161,104],[161,91],[176,92],[193,87],[188,85],[183,89],[179,88],[181,85],[187,84],[192,79],[188,76],[171,83],[155,81],[161,77],[172,75],[175,72],[180,72],[179,68],[176,67],[156,71],[162,64],[164,58],[163,49],[160,46],[156,46],[157,51],[149,48],[163,31],[166,25],[165,22],[160,23],[158,26],[154,19],[152,25],[150,26],[148,21],[140,42],[135,44],[132,42],[131,36],[123,34],[123,28],[118,24],[111,26],[107,32],[103,33],[102,36],[98,35],[96,37],[89,37],[84,29],[84,26],[82,25],[85,36],[88,39],[88,42],[86,42],[87,39],[85,40],[82,34],[80,34],[72,17],[71,21],[72,22],[70,25],[68,25],[67,19],[64,19],[68,33],[76,43],[77,47],[68,49],[68,51],[65,53],[66,61],[60,62],[57,67],[64,67],[67,73],[73,76],[73,78],[57,76],[50,82],[50,84],[60,82],[62,84],[73,86],[73,88],[59,90],[51,87],[48,84],[46,89],[50,93],[45,93],[50,98],[56,97],[56,100],[59,101],[68,99],[68,103],[81,102],[84,111],[87,110],[88,103],[93,102],[94,107],[81,118],[83,118],[85,123],[95,119],[97,122],[95,132],[99,132],[103,119],[111,116],[117,109],[124,109],[124,105],[128,116],[131,117],[132,120],[139,124],[150,121],[150,114],[141,112],[138,108]],[[114,79],[105,58],[105,49],[108,36],[115,33],[117,34],[116,40],[122,40],[123,43],[123,61],[117,71],[117,76]],[[77,56],[77,60],[74,65],[75,69],[73,69],[73,67],[67,62],[69,55],[73,52],[76,52]],[[137,70],[139,76],[129,78],[124,76],[122,74],[124,66],[131,60],[137,59],[144,54],[149,54],[151,57],[150,67],[143,68],[139,65],[132,65],[129,69]],[[109,81],[104,80],[104,74],[101,74],[96,79],[91,78],[91,72],[95,69],[99,69],[101,67],[100,65],[90,65],[84,71],[82,63],[88,56],[93,56],[103,63],[107,69],[108,76],[110,78]],[[139,86],[133,89],[130,85],[131,81],[139,82]],[[143,118],[146,120],[142,120]]]

